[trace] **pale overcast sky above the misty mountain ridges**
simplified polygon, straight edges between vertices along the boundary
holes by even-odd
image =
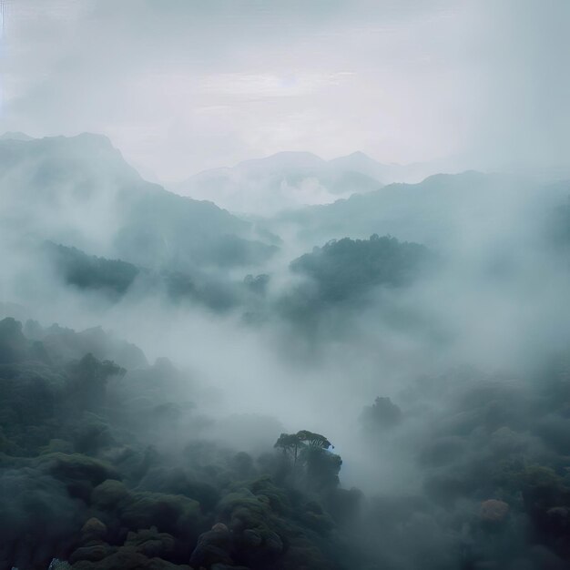
[[[566,0],[4,0],[0,129],[175,182],[283,150],[566,165]]]

